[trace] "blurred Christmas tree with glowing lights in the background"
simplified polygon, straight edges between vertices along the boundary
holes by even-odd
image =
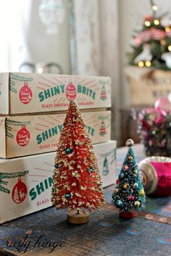
[[[151,15],[144,17],[141,30],[133,37],[129,64],[138,67],[171,69],[171,22],[168,13],[159,15],[158,7],[150,0]],[[171,15],[170,15],[171,16]]]

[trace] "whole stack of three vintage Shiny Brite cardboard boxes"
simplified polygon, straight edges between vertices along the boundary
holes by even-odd
[[[94,144],[104,186],[115,181],[106,77],[0,74],[0,223],[51,206],[54,158],[75,99]]]

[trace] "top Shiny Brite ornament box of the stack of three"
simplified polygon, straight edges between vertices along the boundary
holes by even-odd
[[[0,73],[0,115],[111,107],[111,79],[80,75]]]

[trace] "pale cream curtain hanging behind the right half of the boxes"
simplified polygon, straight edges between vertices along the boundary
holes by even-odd
[[[112,78],[112,139],[120,136],[117,0],[71,0],[72,73]]]

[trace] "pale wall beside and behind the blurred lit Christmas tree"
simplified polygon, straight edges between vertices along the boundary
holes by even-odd
[[[133,30],[141,26],[144,15],[151,14],[149,0],[118,0],[120,19],[120,83],[122,86],[122,105],[129,104],[129,88],[125,79],[124,66],[128,59],[126,53],[130,51],[130,40]],[[154,0],[159,14],[171,11],[170,0]],[[170,13],[171,17],[171,13]]]

